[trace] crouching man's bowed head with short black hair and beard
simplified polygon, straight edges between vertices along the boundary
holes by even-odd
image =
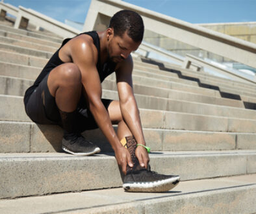
[[[140,15],[131,10],[121,10],[110,19],[107,29],[110,60],[120,62],[131,51],[138,49],[144,34],[144,24]]]

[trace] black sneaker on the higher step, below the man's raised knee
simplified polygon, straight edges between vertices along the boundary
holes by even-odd
[[[86,141],[81,134],[64,134],[62,149],[70,154],[92,155],[101,151],[90,141]]]

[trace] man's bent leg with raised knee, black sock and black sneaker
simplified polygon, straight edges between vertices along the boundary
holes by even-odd
[[[62,149],[71,154],[90,155],[100,152],[99,147],[86,141],[77,133],[77,104],[82,94],[81,71],[77,65],[66,63],[55,67],[49,74],[47,86],[51,96],[55,97],[64,137]]]

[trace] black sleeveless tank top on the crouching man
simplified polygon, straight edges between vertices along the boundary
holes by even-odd
[[[89,36],[92,37],[92,39],[94,40],[94,45],[97,48],[97,52],[98,52],[98,58],[97,58],[97,71],[99,73],[99,78],[101,80],[101,82],[103,82],[103,80],[108,77],[111,73],[114,72],[114,69],[116,67],[116,63],[114,62],[106,62],[103,67],[101,67],[101,58],[100,58],[100,46],[99,46],[99,35],[97,34],[96,31],[91,31],[91,32],[83,32],[82,34],[87,34]],[[81,34],[79,34],[81,35]],[[77,36],[79,36],[77,35]],[[76,36],[75,36],[76,37]],[[66,40],[64,40],[62,42],[62,45],[60,46],[60,48],[55,52],[55,54],[53,54],[53,56],[51,56],[49,62],[47,62],[47,64],[45,65],[44,69],[42,70],[42,72],[40,73],[40,75],[38,76],[38,78],[36,78],[36,80],[34,81],[34,84],[27,89],[27,91],[25,92],[24,95],[24,103],[25,105],[27,104],[27,102],[29,101],[29,97],[31,95],[31,93],[34,91],[34,89],[36,89],[38,87],[38,85],[40,84],[40,82],[44,79],[44,77],[51,72],[51,70],[55,67],[57,67],[60,64],[64,64],[64,62],[62,62],[62,60],[60,60],[60,58],[58,57],[58,52],[60,51],[60,49],[68,42],[70,41],[72,38],[67,38]]]

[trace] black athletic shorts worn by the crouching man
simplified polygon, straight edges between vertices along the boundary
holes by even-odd
[[[25,110],[34,123],[62,126],[55,97],[51,95],[47,86],[48,76],[49,74],[46,75],[39,86],[34,89],[25,106]],[[101,101],[106,109],[109,108],[109,104],[112,102],[112,100],[109,99],[101,99]],[[83,96],[81,96],[79,104],[77,105],[77,112],[77,125],[80,132],[98,128],[94,116],[86,106],[86,101]]]

